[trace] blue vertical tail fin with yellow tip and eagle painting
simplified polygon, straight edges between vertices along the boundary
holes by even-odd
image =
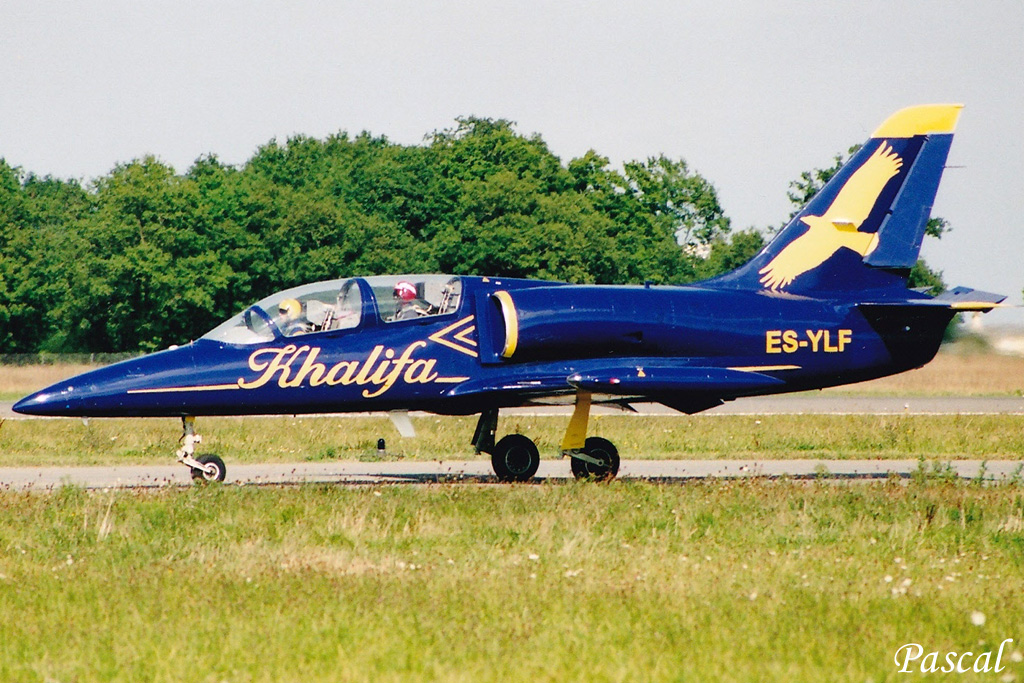
[[[753,260],[709,284],[793,294],[905,288],[962,109],[893,114]]]

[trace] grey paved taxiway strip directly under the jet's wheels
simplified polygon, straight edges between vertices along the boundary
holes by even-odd
[[[825,479],[856,481],[913,476],[922,464],[916,460],[634,460],[623,461],[621,479],[665,483],[715,478],[766,477],[777,479]],[[1024,461],[958,460],[928,464],[967,479],[984,476],[1000,481],[1024,476]],[[567,459],[544,460],[534,481],[572,478]],[[296,463],[238,465],[227,463],[226,483],[232,485],[334,484],[430,484],[496,483],[486,460]],[[50,490],[63,485],[84,488],[161,488],[193,485],[182,465],[116,467],[2,467],[0,490]]]

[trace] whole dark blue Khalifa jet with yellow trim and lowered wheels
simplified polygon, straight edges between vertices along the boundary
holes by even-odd
[[[752,261],[687,286],[492,276],[350,278],[272,294],[186,346],[58,382],[14,410],[178,417],[365,411],[479,414],[472,438],[498,478],[537,472],[534,441],[496,442],[502,408],[570,402],[561,442],[578,477],[618,454],[588,437],[592,401],[693,414],[742,396],[860,382],[925,365],[958,311],[1004,297],[907,289],[961,105],[897,112]],[[408,425],[408,419],[404,421]],[[401,428],[402,421],[396,420]]]

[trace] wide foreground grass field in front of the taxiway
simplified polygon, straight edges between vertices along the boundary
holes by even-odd
[[[3,681],[1024,679],[1015,485],[8,492],[0,549]]]

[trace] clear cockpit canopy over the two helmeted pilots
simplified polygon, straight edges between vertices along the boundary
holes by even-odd
[[[203,339],[256,344],[281,337],[352,330],[368,316],[398,323],[455,312],[462,280],[452,275],[374,275],[303,285],[257,301]]]

